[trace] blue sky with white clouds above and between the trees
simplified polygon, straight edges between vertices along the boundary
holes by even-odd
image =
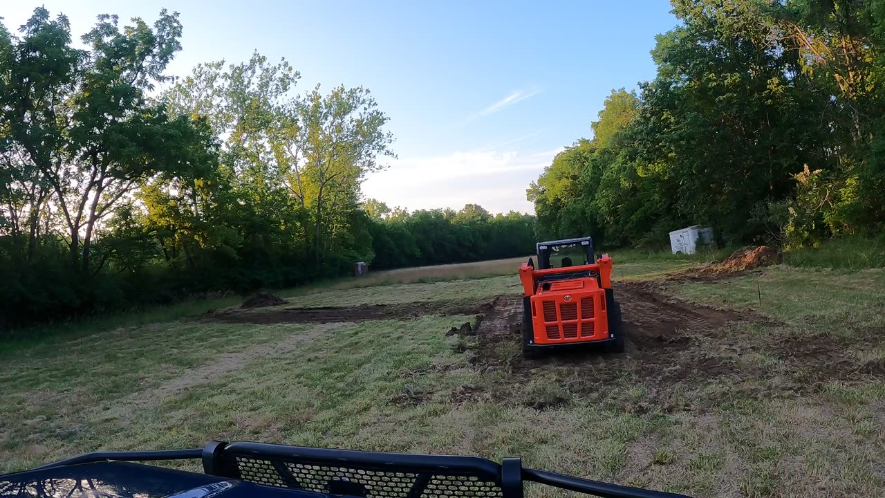
[[[180,12],[183,50],[170,74],[257,50],[287,58],[302,74],[299,92],[363,85],[388,113],[399,156],[366,179],[367,197],[493,213],[532,212],[528,183],[591,136],[612,89],[654,76],[654,36],[676,25],[664,0],[7,0],[0,15],[15,29],[40,4],[64,12],[78,37],[98,13],[152,22],[162,7]]]

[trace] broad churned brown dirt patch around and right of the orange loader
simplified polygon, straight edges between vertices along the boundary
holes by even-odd
[[[627,332],[624,354],[592,345],[528,360],[519,352],[522,303],[501,298],[478,326],[473,362],[480,370],[504,371],[506,381],[491,388],[493,399],[524,406],[520,386],[553,374],[559,387],[581,398],[615,402],[620,409],[712,409],[735,392],[753,397],[793,397],[820,382],[883,375],[880,362],[860,364],[846,352],[844,340],[759,333],[746,337],[757,323],[775,327],[750,312],[700,307],[673,300],[656,284],[615,284]],[[531,400],[528,400],[531,401]],[[557,402],[535,409],[555,408]],[[563,402],[566,397],[563,397]],[[547,406],[550,404],[550,406]]]

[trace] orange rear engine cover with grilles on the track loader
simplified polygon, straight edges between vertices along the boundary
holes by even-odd
[[[535,344],[609,338],[605,290],[596,278],[541,282],[531,302]]]

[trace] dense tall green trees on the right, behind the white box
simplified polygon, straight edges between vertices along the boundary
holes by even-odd
[[[672,0],[657,76],[613,90],[593,138],[527,191],[542,237],[800,247],[885,224],[885,4]]]

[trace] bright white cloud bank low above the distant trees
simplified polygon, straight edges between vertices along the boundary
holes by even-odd
[[[445,156],[400,158],[389,169],[370,175],[366,197],[410,210],[479,204],[492,213],[534,212],[526,200],[528,184],[537,179],[562,149],[452,152]]]

